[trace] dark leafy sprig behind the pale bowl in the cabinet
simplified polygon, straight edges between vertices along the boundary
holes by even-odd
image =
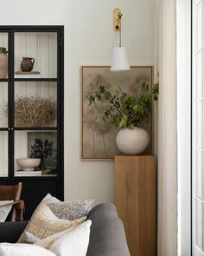
[[[47,168],[47,159],[53,154],[53,141],[41,141],[41,139],[35,139],[35,143],[30,147],[30,158],[40,158],[41,163],[39,165],[40,170],[46,170]]]

